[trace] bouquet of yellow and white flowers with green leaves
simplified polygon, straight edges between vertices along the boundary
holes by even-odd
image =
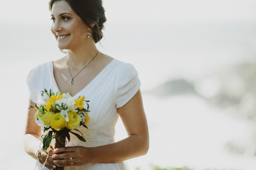
[[[70,141],[69,133],[74,134],[81,141],[86,142],[82,136],[71,130],[81,133],[76,129],[77,127],[84,126],[87,128],[86,124],[89,122],[87,112],[90,112],[87,102],[89,101],[84,100],[84,96],[73,99],[69,93],[56,92],[54,94],[51,89],[49,93],[45,89],[41,95],[44,97],[45,103],[35,105],[35,108],[38,109],[35,113],[35,122],[38,126],[41,126],[42,131],[48,131],[42,140],[43,149],[48,149],[53,138],[56,140],[55,148],[64,147],[66,138]],[[84,102],[87,104],[87,108],[83,107]],[[31,107],[33,106],[30,105],[29,108]],[[60,170],[64,169],[58,168]]]

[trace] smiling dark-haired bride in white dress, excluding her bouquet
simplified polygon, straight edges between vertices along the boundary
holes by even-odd
[[[52,33],[63,58],[34,67],[27,76],[29,104],[43,103],[41,91],[52,89],[74,98],[90,100],[88,130],[81,127],[86,142],[71,134],[65,147],[38,154],[41,128],[35,123],[35,108],[27,112],[24,149],[37,159],[36,170],[65,167],[65,170],[124,170],[127,159],[148,151],[147,120],[135,68],[102,54],[95,46],[102,38],[106,21],[101,0],[51,0]],[[128,137],[114,141],[114,127],[121,117]],[[38,140],[39,139],[39,140]],[[42,149],[40,149],[42,150]],[[61,154],[60,154],[61,153]]]

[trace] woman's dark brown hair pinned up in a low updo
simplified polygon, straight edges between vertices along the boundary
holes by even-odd
[[[49,9],[52,11],[52,5],[56,1],[61,0],[50,0]],[[102,39],[104,23],[106,22],[105,9],[102,7],[102,0],[64,0],[66,1],[71,9],[78,15],[83,22],[91,28],[93,32],[94,42],[97,43]],[[93,27],[91,23],[95,23]]]

